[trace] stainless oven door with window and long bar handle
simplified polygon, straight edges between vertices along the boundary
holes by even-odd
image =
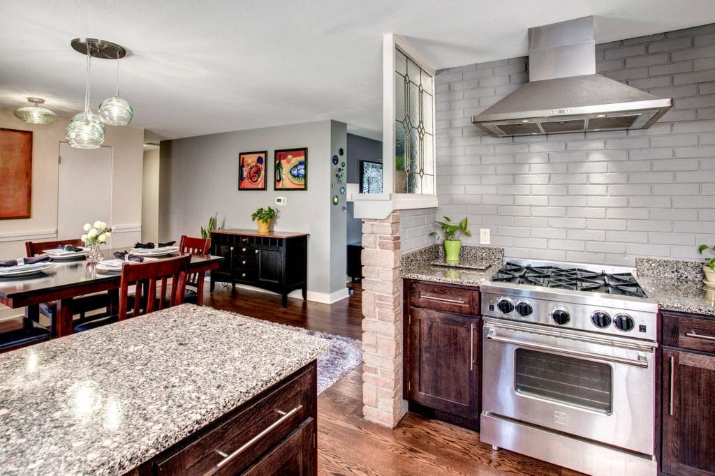
[[[483,410],[654,454],[655,343],[484,318]]]

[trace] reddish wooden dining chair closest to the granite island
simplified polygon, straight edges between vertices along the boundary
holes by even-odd
[[[143,263],[124,263],[119,284],[119,314],[84,322],[74,327],[74,332],[83,332],[127,317],[137,317],[182,304],[189,261],[191,255],[186,254]],[[134,294],[130,295],[129,287],[134,285]]]

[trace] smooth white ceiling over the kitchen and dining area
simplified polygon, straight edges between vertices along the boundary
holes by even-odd
[[[133,126],[166,138],[337,119],[380,137],[382,35],[436,69],[525,55],[530,26],[596,15],[599,43],[715,22],[713,0],[3,0],[0,106],[82,109],[76,37],[122,44]],[[92,64],[93,108],[116,63]]]

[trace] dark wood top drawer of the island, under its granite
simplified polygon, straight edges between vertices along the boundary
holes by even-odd
[[[236,474],[295,430],[315,392],[311,370],[250,405],[157,463],[159,475]],[[230,458],[230,456],[237,454]],[[223,462],[223,463],[222,463]],[[217,467],[222,463],[221,467]]]

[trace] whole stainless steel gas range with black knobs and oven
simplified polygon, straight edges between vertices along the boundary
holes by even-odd
[[[592,475],[655,475],[657,307],[633,270],[513,260],[480,290],[481,440]]]

